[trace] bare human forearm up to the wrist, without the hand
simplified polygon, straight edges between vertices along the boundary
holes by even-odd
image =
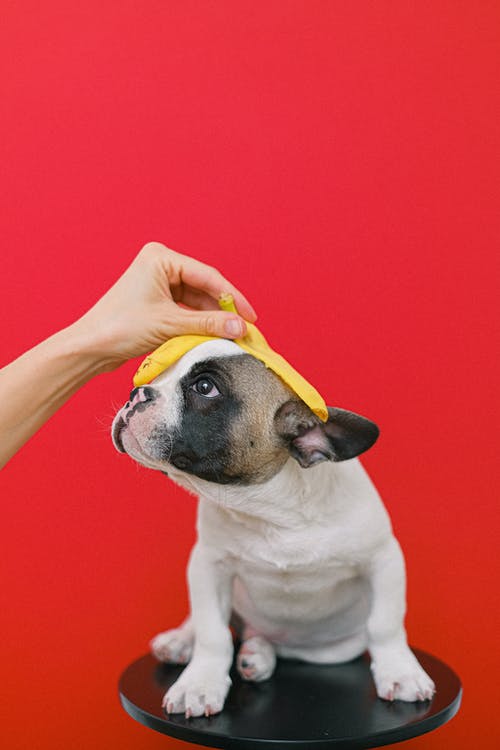
[[[113,366],[75,323],[0,370],[0,468],[82,385]]]

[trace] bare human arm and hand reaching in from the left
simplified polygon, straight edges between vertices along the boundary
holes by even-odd
[[[0,468],[95,375],[183,333],[244,335],[242,317],[218,310],[222,293],[255,320],[245,297],[214,268],[158,242],[145,245],[82,318],[0,370]]]

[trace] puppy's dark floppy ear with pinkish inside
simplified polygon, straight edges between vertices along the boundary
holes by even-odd
[[[379,435],[377,425],[359,414],[329,407],[328,421],[322,422],[303,401],[296,400],[278,409],[274,424],[290,454],[304,468],[359,456]]]

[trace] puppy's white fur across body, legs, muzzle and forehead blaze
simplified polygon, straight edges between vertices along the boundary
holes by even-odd
[[[203,344],[157,378],[168,419],[179,417],[176,385],[194,362],[239,353],[232,342]],[[122,441],[136,460],[164,469],[147,450],[156,418],[153,407],[137,425],[133,418]],[[252,623],[237,657],[245,679],[269,677],[276,655],[335,663],[368,649],[381,698],[432,697],[434,684],[407,644],[403,556],[357,459],[303,469],[290,458],[270,480],[248,486],[218,485],[171,465],[168,473],[199,497],[191,616],[151,644],[160,660],[189,662],[165,696],[168,712],[222,709],[231,684],[232,609]]]

